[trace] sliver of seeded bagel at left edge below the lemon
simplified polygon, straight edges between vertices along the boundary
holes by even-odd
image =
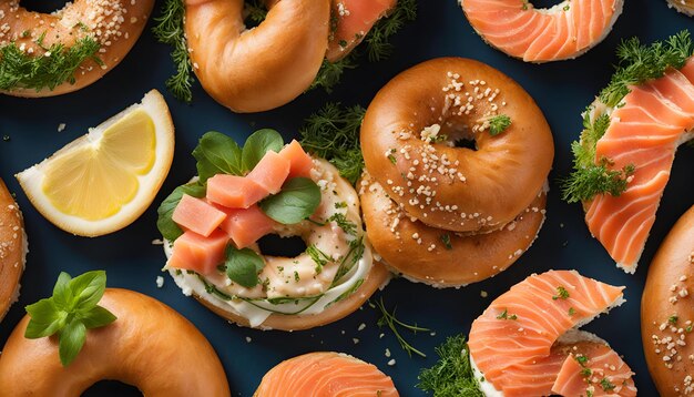
[[[22,213],[0,179],[0,320],[17,301],[24,271],[25,238]]]

